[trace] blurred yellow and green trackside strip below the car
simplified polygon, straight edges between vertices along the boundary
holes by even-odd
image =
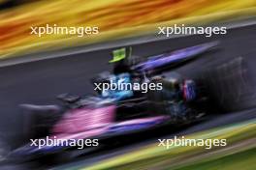
[[[166,150],[158,143],[140,151],[116,156],[84,170],[96,169],[243,169],[247,162],[255,169],[256,120],[194,133],[189,138],[227,139],[225,148],[172,147]],[[253,154],[254,152],[254,154]],[[236,158],[236,161],[234,161]],[[245,158],[245,159],[244,159]],[[214,163],[217,162],[217,163]],[[73,169],[76,169],[73,167]],[[77,169],[83,169],[77,167]]]

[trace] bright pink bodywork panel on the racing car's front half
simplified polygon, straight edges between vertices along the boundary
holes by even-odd
[[[115,106],[101,108],[80,108],[70,110],[52,128],[57,138],[88,138],[104,133],[112,125]]]

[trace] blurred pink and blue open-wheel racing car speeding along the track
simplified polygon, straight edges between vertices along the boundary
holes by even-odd
[[[97,138],[104,143],[113,136],[197,122],[205,113],[193,108],[193,102],[203,97],[192,79],[183,78],[176,72],[170,77],[146,76],[144,72],[191,60],[215,45],[216,42],[208,42],[146,58],[144,62],[133,62],[132,65],[126,63],[127,59],[120,51],[118,54],[114,51],[115,56],[111,63],[116,62],[117,66],[114,67],[113,74],[97,76],[94,82],[109,83],[113,79],[117,82],[119,79],[140,83],[161,82],[163,89],[146,94],[139,93],[140,95],[134,95],[136,92],[131,90],[99,91],[99,96],[94,97],[64,94],[58,96],[65,103],[62,107],[22,104],[21,107],[29,118],[26,120],[30,120],[25,126],[29,129],[25,131],[27,139],[43,139],[46,136],[77,140]],[[120,67],[124,65],[125,67]],[[76,147],[49,145],[38,148],[27,144],[13,151],[10,156],[33,159],[74,149]]]

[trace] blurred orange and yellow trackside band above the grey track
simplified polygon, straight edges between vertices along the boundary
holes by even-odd
[[[254,0],[42,0],[7,8],[0,12],[0,58],[37,50],[50,50],[92,42],[103,42],[138,36],[155,31],[157,25],[176,19],[214,14],[206,20],[193,19],[193,23],[227,19],[229,13],[244,10],[255,12]],[[245,13],[244,13],[245,12]],[[216,15],[219,14],[220,15]],[[236,16],[236,15],[235,15]],[[31,26],[98,26],[99,35],[77,38],[74,35],[30,35]]]

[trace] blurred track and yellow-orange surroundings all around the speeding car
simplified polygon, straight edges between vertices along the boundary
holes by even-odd
[[[255,16],[255,0],[0,0],[0,169],[255,169]],[[31,26],[46,24],[98,26],[100,33],[30,34]],[[158,26],[174,24],[226,26],[228,32],[210,38],[156,36]],[[175,70],[207,85],[206,121],[55,164],[7,160],[22,139],[18,104],[55,104],[62,93],[93,93],[90,78],[112,69],[108,61],[120,46],[150,56],[212,41],[220,42],[217,50]],[[228,146],[157,147],[158,138],[175,135],[227,138]]]

